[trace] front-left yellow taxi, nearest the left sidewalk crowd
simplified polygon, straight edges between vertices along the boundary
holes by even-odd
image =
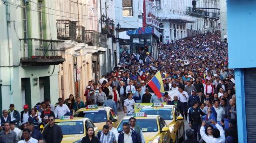
[[[95,135],[98,132],[93,121],[84,117],[63,116],[61,119],[55,119],[55,124],[61,126],[63,133],[61,143],[81,143],[82,138],[86,136],[88,127],[94,128]]]

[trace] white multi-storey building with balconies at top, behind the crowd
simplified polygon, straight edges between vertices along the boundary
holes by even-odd
[[[160,21],[162,42],[168,43],[187,36],[211,32],[219,27],[219,0],[197,0],[195,11],[192,0],[155,0],[156,16]]]

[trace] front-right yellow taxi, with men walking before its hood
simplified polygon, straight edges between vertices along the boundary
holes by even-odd
[[[145,113],[137,112],[134,116],[126,116],[117,127],[118,133],[121,133],[123,129],[123,123],[129,123],[130,117],[135,117],[136,124],[141,127],[146,143],[171,143],[169,128],[164,119],[159,115],[146,115]]]

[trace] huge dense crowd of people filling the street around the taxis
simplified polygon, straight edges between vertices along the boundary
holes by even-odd
[[[227,51],[228,44],[226,40],[221,41],[220,32],[199,34],[169,44],[160,42],[158,59],[145,50],[136,54],[124,51],[120,54],[121,64],[113,71],[103,75],[99,81],[88,82],[84,93],[86,102],[70,95],[66,100],[59,98],[55,106],[47,99],[36,104],[31,111],[28,105],[24,105],[21,112],[14,110],[11,104],[9,110],[3,110],[0,118],[3,128],[0,140],[6,142],[6,135],[10,133],[13,141],[7,143],[26,140],[26,136],[27,139],[60,143],[62,137],[55,137],[55,130],[60,128],[54,124],[54,119],[72,115],[89,104],[109,106],[116,114],[123,111],[129,116],[134,114],[135,103],[166,102],[176,105],[189,122],[191,130],[186,131],[188,140],[237,143],[235,77],[234,71],[228,69]],[[161,98],[148,86],[157,71],[161,72],[165,91]],[[127,143],[127,139],[131,143],[144,143],[140,128],[133,122],[135,119],[124,123],[119,135],[111,126],[111,121],[104,125],[97,136],[94,136],[93,128],[88,128],[88,136],[83,138],[82,143]],[[51,134],[41,135],[39,126],[47,123],[49,125],[45,130]],[[18,128],[20,126],[23,132]],[[39,132],[34,133],[34,130]],[[58,131],[56,136],[62,136],[62,133]]]

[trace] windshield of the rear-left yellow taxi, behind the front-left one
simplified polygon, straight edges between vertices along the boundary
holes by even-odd
[[[80,111],[74,114],[74,117],[87,117],[93,121],[93,123],[107,122],[107,112],[105,110],[88,110]]]

